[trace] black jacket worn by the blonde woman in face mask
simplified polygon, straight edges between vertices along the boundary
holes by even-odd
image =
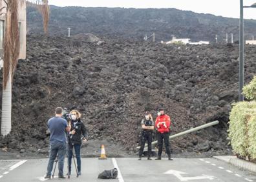
[[[88,140],[87,128],[85,128],[85,125],[83,124],[80,118],[76,119],[75,121],[71,120],[70,122],[71,122],[70,131],[76,130],[76,133],[74,135],[69,136],[69,143],[81,145],[81,137],[85,137]],[[76,123],[76,125],[74,125],[74,123]]]

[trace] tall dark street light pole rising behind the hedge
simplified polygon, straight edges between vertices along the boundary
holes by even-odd
[[[239,37],[239,101],[244,101],[242,87],[244,86],[244,5],[240,0],[240,37]]]

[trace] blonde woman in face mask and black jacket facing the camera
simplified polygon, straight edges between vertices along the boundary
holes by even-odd
[[[72,110],[70,112],[71,120],[69,121],[69,126],[71,131],[69,133],[69,145],[68,145],[68,165],[69,165],[69,174],[71,172],[71,159],[73,155],[73,147],[76,154],[76,161],[78,164],[78,175],[81,175],[81,157],[80,149],[82,144],[81,136],[83,136],[83,142],[87,142],[87,128],[81,121],[81,114],[78,110]]]

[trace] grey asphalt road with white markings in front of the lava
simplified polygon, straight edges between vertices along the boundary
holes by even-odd
[[[48,181],[43,179],[47,168],[48,159],[27,160],[1,160],[0,181],[5,182],[32,182]],[[109,158],[99,160],[96,158],[83,158],[81,166],[82,175],[76,177],[72,168],[68,181],[256,181],[255,174],[240,170],[228,163],[214,158],[185,159],[175,158],[173,161],[147,161],[136,158]],[[98,174],[103,170],[118,167],[118,179],[98,179]],[[67,173],[67,159],[64,167]],[[59,181],[58,167],[56,178],[50,181]]]

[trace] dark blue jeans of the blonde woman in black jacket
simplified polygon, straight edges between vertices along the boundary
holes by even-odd
[[[71,161],[72,161],[72,155],[73,155],[73,146],[74,146],[75,154],[76,154],[76,161],[77,161],[77,165],[78,165],[78,172],[81,172],[81,157],[80,157],[81,145],[79,145],[79,144],[69,145],[69,147],[68,147],[69,172],[71,172]]]

